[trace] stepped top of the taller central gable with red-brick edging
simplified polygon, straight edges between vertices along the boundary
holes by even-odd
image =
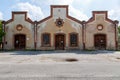
[[[82,24],[82,22],[72,16],[68,15],[68,5],[51,5],[51,14],[50,16],[38,21],[38,24],[45,22],[46,20],[53,18],[54,22],[56,21],[56,19],[63,19],[65,20],[66,18],[75,21],[77,23]]]

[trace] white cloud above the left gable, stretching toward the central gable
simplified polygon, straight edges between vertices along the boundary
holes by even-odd
[[[44,18],[44,14],[40,7],[36,5],[32,5],[29,2],[26,3],[18,3],[14,8],[17,8],[20,11],[28,11],[28,16],[32,20],[40,20]]]

